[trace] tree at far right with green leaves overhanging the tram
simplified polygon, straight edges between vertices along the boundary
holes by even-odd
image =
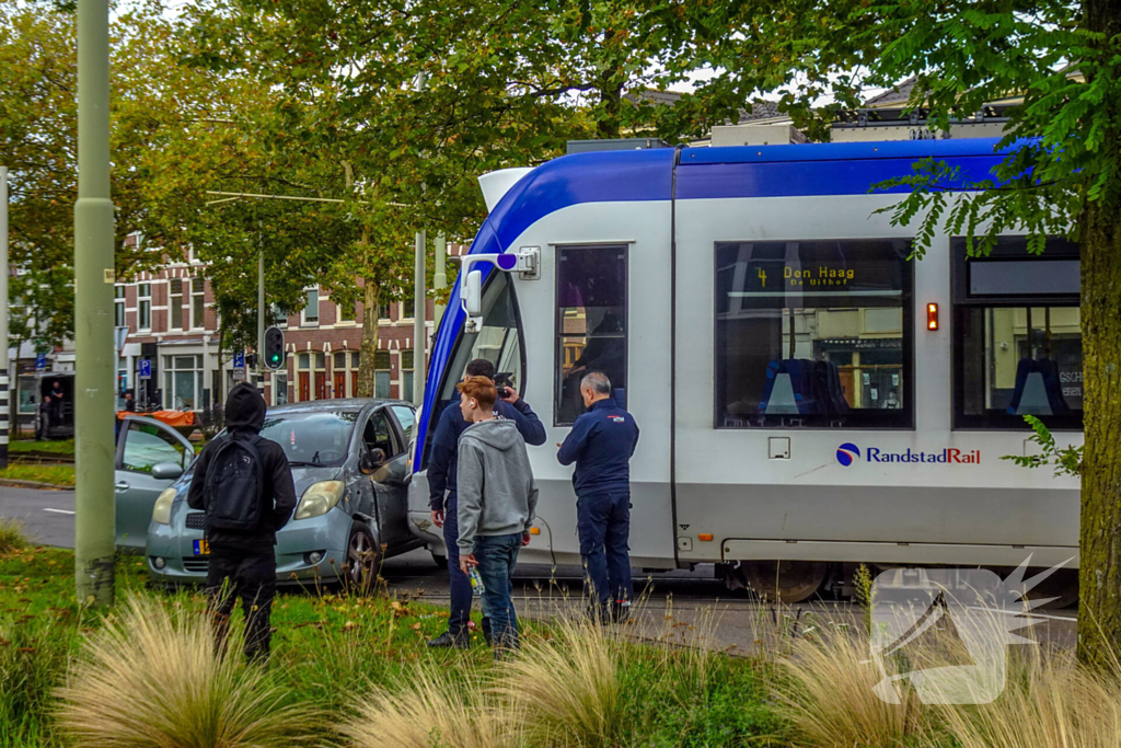
[[[703,46],[720,72],[697,98],[777,91],[818,135],[868,86],[912,76],[908,107],[943,131],[985,103],[1015,104],[991,179],[951,188],[956,173],[923,160],[895,182],[911,192],[893,219],[917,224],[918,257],[935,227],[967,237],[971,255],[988,253],[1001,232],[1027,234],[1031,252],[1048,236],[1081,243],[1078,656],[1109,662],[1121,652],[1121,1],[724,2],[705,24],[741,33]],[[815,107],[822,96],[831,103]]]

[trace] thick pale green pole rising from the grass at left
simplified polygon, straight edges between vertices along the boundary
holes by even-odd
[[[113,602],[113,202],[109,192],[109,0],[77,2],[74,205],[75,523],[80,603]]]

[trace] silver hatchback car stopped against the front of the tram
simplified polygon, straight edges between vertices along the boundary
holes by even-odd
[[[261,436],[284,447],[299,497],[277,533],[278,582],[364,585],[382,557],[423,545],[407,524],[415,418],[411,405],[396,400],[314,400],[268,410]],[[203,512],[186,504],[192,477],[188,470],[164,490],[149,514],[148,571],[166,584],[206,578]]]

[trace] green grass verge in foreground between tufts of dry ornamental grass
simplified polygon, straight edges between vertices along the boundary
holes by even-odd
[[[201,615],[197,589],[151,589],[143,562],[117,564],[119,598],[141,594]],[[478,616],[478,613],[476,613]],[[370,684],[398,692],[423,669],[450,678],[460,692],[495,674],[481,641],[466,650],[432,650],[425,641],[446,625],[445,609],[385,594],[351,598],[312,590],[281,591],[274,604],[269,676],[294,703],[309,704],[340,724]],[[235,616],[235,621],[240,613]],[[50,717],[54,690],[83,631],[101,615],[77,603],[74,555],[61,548],[24,548],[0,555],[0,748],[63,746]],[[237,627],[237,624],[235,624]],[[522,621],[527,643],[554,636],[549,625]],[[766,703],[765,678],[751,662],[711,655],[704,676],[696,655],[615,643],[623,693],[626,747],[782,745],[782,723]],[[325,741],[337,738],[333,732]],[[573,746],[580,748],[580,746]]]

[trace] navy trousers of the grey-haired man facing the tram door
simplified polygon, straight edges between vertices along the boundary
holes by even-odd
[[[576,498],[576,529],[584,564],[584,593],[605,606],[634,597],[631,584],[630,493],[590,493]]]

